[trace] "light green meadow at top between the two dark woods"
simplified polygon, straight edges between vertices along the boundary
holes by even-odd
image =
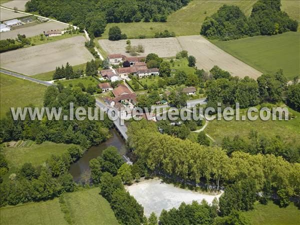
[[[118,26],[128,38],[137,38],[144,35],[152,38],[156,32],[168,30],[175,32],[176,36],[198,35],[205,17],[211,16],[222,5],[229,4],[240,7],[249,16],[255,1],[192,1],[186,7],[168,16],[166,23],[112,23],[107,24],[101,39],[108,38],[110,27]]]

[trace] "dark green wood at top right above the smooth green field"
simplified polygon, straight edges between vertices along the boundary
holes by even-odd
[[[297,31],[298,22],[280,10],[280,0],[259,0],[249,18],[236,6],[222,6],[206,17],[200,34],[211,39],[232,40],[247,36],[276,35]]]

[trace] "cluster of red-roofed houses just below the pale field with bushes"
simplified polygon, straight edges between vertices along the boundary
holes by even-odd
[[[130,64],[129,67],[120,67],[116,70],[101,70],[101,76],[111,82],[128,79],[129,74],[136,75],[139,78],[156,76],[159,74],[159,70],[157,68],[147,68],[146,63],[143,62],[145,60],[145,57],[126,57],[121,54],[112,54],[107,56],[107,60],[109,64],[112,65],[118,65],[119,63],[125,61],[128,61],[128,63]]]

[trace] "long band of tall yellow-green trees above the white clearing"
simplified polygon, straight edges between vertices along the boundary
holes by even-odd
[[[139,158],[146,160],[150,170],[174,180],[180,177],[183,182],[190,180],[194,184],[204,181],[207,188],[213,182],[218,189],[220,182],[253,179],[257,191],[269,182],[270,190],[283,190],[287,196],[300,194],[300,163],[289,163],[273,154],[234,151],[229,157],[219,147],[160,134],[153,122],[143,120],[128,127],[128,144]]]

